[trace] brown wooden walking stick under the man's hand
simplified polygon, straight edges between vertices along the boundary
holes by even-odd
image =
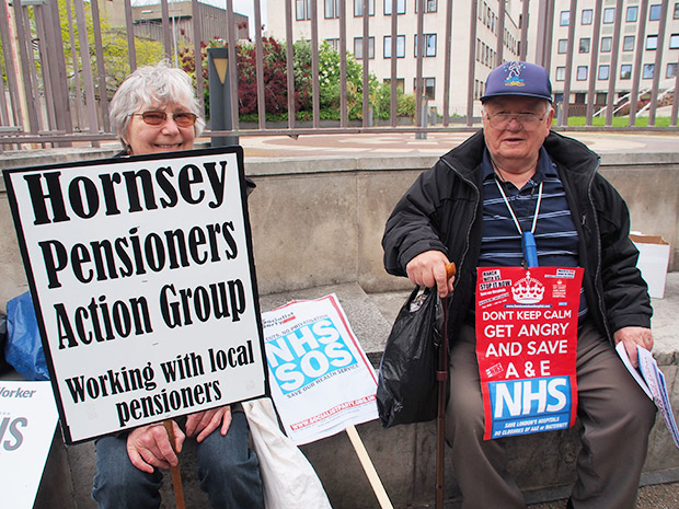
[[[454,264],[446,265],[446,276],[448,279],[454,276]],[[438,370],[436,380],[438,382],[438,415],[436,419],[436,509],[444,509],[444,467],[446,459],[446,396],[448,384],[448,297],[441,301],[444,311],[444,326],[441,331],[441,344],[438,348]]]

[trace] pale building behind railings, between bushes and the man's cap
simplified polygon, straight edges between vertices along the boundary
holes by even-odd
[[[292,2],[292,34],[295,41],[311,39],[311,1]],[[340,1],[318,0],[318,33],[321,41],[338,48]],[[396,80],[405,93],[414,93],[417,69],[417,5],[418,0],[396,1]],[[476,12],[473,13],[474,4]],[[464,116],[468,96],[481,96],[488,72],[505,60],[518,59],[520,41],[519,0],[505,2],[504,23],[500,23],[498,0],[452,2],[450,115]],[[346,48],[356,59],[367,65],[379,81],[391,80],[392,58],[392,0],[368,0],[368,55],[364,56],[364,0],[346,0]],[[425,0],[423,16],[423,86],[430,106],[442,112],[444,69],[446,55],[446,20],[448,2]],[[469,80],[471,51],[471,20],[475,20],[474,80]],[[286,38],[286,19],[278,2],[268,2],[268,34],[279,41]],[[502,61],[498,39],[503,41]]]

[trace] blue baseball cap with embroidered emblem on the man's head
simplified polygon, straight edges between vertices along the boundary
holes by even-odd
[[[552,83],[542,66],[520,61],[505,62],[488,74],[481,102],[500,95],[539,97],[551,103]]]

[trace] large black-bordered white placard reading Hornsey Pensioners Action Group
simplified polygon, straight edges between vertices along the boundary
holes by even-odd
[[[266,394],[240,147],[4,178],[68,443]]]

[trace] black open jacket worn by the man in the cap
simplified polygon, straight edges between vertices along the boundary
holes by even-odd
[[[628,207],[597,170],[599,157],[572,138],[551,132],[544,148],[556,163],[580,240],[579,265],[589,316],[612,343],[625,326],[651,327],[651,299],[629,238]],[[450,303],[450,333],[464,323],[476,282],[483,200],[480,189],[483,131],[422,173],[387,221],[384,267],[405,276],[405,266],[429,250],[444,252],[458,268]]]

